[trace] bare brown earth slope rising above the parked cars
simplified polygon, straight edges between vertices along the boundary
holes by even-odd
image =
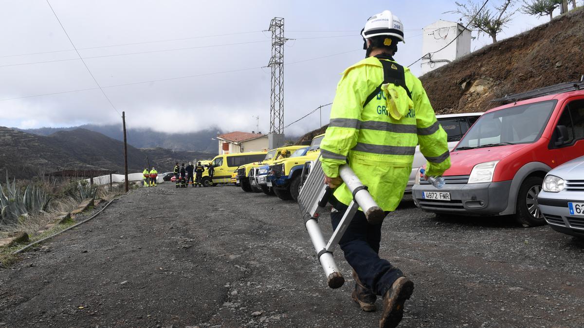
[[[485,111],[496,97],[584,74],[584,9],[558,16],[420,77],[437,114]]]

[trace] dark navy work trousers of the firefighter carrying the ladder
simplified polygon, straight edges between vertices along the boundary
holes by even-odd
[[[339,225],[346,211],[346,206],[336,207],[340,211],[331,212],[333,229]],[[369,224],[365,214],[357,211],[340,239],[339,246],[345,253],[345,259],[359,276],[361,283],[376,295],[385,296],[385,292],[391,288],[394,281],[404,274],[389,261],[380,259],[378,255],[380,242],[381,224]]]

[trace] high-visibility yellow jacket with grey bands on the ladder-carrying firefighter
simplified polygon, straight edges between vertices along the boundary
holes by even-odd
[[[363,107],[383,81],[383,65],[375,57],[343,72],[321,142],[321,162],[326,176],[338,177],[339,166],[348,159],[377,204],[384,211],[393,211],[408,183],[416,145],[427,159],[426,174],[430,176],[450,168],[450,155],[446,132],[436,120],[422,83],[409,69],[405,68],[405,83],[411,99],[403,88],[390,85]],[[334,195],[346,205],[353,198],[345,184]]]

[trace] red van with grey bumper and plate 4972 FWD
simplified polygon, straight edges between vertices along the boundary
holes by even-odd
[[[450,152],[446,185],[416,174],[413,199],[422,210],[460,215],[515,215],[523,226],[545,224],[537,194],[545,174],[584,155],[584,82],[560,83],[506,96],[486,111]]]

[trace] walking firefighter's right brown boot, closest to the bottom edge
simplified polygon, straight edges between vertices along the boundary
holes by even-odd
[[[404,302],[412,296],[413,282],[399,277],[383,296],[383,314],[379,320],[380,328],[397,327],[404,316]]]

